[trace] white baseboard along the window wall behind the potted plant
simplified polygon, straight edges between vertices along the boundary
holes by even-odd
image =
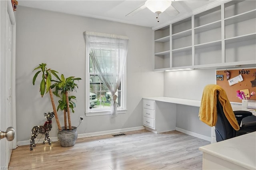
[[[114,134],[114,133],[120,133],[120,132],[129,132],[129,131],[142,130],[142,129],[145,129],[145,128],[141,126],[141,127],[132,127],[132,128],[121,128],[121,129],[115,129],[115,130],[106,130],[101,132],[84,133],[84,134],[78,134],[78,138],[86,138],[90,136],[100,136],[104,134]],[[40,138],[40,135],[41,134],[38,134],[38,138]],[[50,139],[52,142],[58,141],[58,137],[50,137]],[[44,141],[44,135],[42,135],[42,138],[40,138],[40,140],[36,139],[35,143],[36,144],[42,143],[43,141]],[[30,144],[30,140],[17,141],[18,146],[29,145],[29,144]],[[46,141],[45,144],[48,144],[48,142]]]

